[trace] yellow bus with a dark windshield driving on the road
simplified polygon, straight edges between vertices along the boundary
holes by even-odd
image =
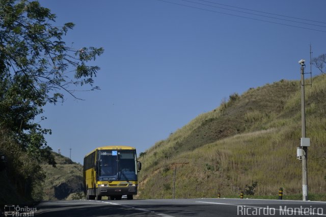
[[[84,192],[87,200],[121,200],[137,195],[138,178],[142,164],[137,160],[136,149],[130,146],[103,146],[84,158]]]

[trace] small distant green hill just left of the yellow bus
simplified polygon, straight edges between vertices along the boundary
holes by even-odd
[[[43,200],[77,199],[84,196],[83,192],[83,165],[73,162],[56,152],[57,167],[42,164],[46,178],[43,184]]]

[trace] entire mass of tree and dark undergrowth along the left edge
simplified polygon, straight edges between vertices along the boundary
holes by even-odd
[[[2,0],[0,17],[0,204],[31,204],[43,198],[42,162],[57,164],[44,138],[51,129],[41,126],[43,108],[65,94],[80,99],[79,88],[98,90],[93,61],[104,50],[69,47],[63,37],[74,23],[58,26],[38,1]]]

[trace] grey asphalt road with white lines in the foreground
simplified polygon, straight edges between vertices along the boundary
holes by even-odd
[[[253,199],[45,201],[34,216],[326,216],[325,202]]]

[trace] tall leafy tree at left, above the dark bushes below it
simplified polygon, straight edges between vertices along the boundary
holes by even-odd
[[[93,86],[98,66],[89,66],[103,48],[73,49],[62,40],[74,24],[54,26],[56,15],[38,2],[0,0],[0,126],[10,129],[31,155],[55,165],[43,137],[51,133],[34,123],[46,103],[79,99],[74,88]],[[45,117],[42,117],[42,119]]]

